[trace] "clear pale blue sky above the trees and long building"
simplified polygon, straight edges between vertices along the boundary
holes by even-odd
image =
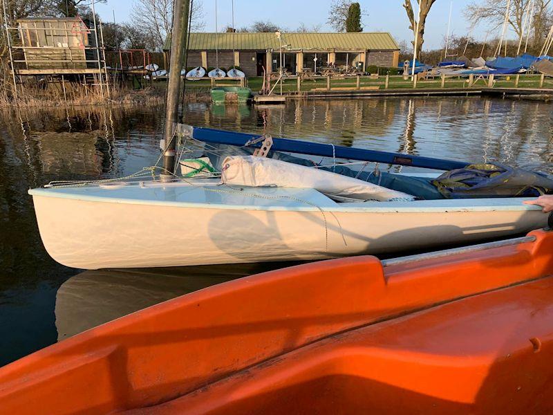
[[[107,0],[105,4],[97,4],[96,11],[104,21],[129,21],[130,11],[136,0]],[[195,0],[203,2],[205,13],[205,31],[215,31],[215,1]],[[330,32],[332,28],[326,24],[330,0],[234,0],[234,26],[241,28],[250,26],[252,21],[270,20],[279,26],[294,30],[301,23],[310,27],[321,25],[321,31]],[[390,32],[397,42],[411,42],[412,33],[409,30],[402,0],[359,0],[362,8],[368,12],[364,17],[365,32]],[[413,0],[413,3],[416,3]],[[451,12],[450,33],[456,36],[467,35],[470,24],[463,15],[463,10],[471,0],[437,0],[427,17],[425,32],[425,49],[440,48],[447,33],[449,8]],[[230,26],[232,21],[232,0],[217,0],[218,29]],[[487,28],[477,26],[472,35],[476,39],[484,39]],[[490,37],[494,37],[491,33]]]

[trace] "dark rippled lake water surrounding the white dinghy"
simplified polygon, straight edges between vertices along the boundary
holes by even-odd
[[[273,136],[552,170],[552,107],[543,102],[418,98],[189,104],[188,122]],[[162,108],[0,113],[0,365],[58,338],[211,284],[288,264],[86,271],[41,244],[27,190],[131,174],[155,163]]]

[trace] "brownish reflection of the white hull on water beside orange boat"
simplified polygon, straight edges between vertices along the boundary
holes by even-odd
[[[136,270],[87,270],[56,293],[57,340],[168,299],[297,263],[237,264]]]

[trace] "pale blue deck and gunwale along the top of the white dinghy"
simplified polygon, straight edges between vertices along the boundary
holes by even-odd
[[[47,187],[29,191],[32,196],[78,201],[167,205],[182,208],[227,210],[294,210],[339,212],[478,212],[538,210],[522,202],[528,198],[440,199],[337,203],[314,189],[293,187],[237,187],[220,185],[218,179],[171,182],[110,182],[75,187]]]

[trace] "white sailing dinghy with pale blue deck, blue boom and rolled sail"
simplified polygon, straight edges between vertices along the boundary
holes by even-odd
[[[266,149],[263,138],[243,133],[185,127],[182,134],[206,147],[218,142]],[[274,150],[297,154],[433,169],[465,165],[272,142]],[[30,190],[46,250],[66,266],[87,269],[312,260],[469,243],[547,223],[541,210],[523,205],[524,198],[413,200],[405,192],[259,156],[225,158],[220,176],[206,177],[208,164],[199,177]]]

